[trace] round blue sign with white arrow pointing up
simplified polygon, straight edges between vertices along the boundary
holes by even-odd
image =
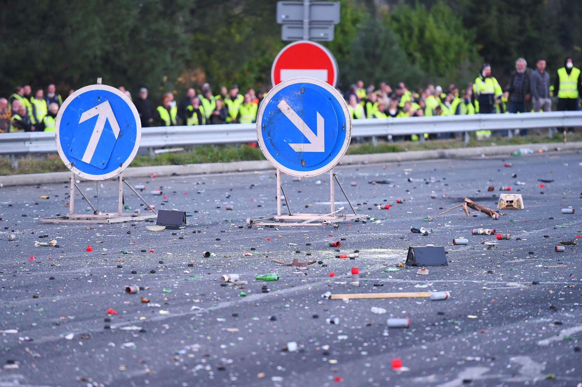
[[[56,116],[56,149],[80,177],[104,180],[123,171],[137,153],[141,122],[133,102],[107,85],[83,87]]]

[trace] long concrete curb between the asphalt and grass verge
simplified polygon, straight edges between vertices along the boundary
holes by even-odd
[[[522,144],[501,146],[480,146],[477,148],[455,148],[436,150],[415,150],[412,152],[372,153],[370,155],[346,155],[340,160],[339,165],[352,165],[361,163],[390,163],[410,162],[418,160],[434,159],[466,159],[469,157],[485,156],[509,156],[520,148],[530,148],[534,152],[544,150],[554,152],[556,150],[582,150],[582,141],[567,142],[566,144],[552,142],[549,144]],[[162,165],[148,167],[129,167],[123,171],[125,177],[149,177],[152,173],[158,176],[196,175],[210,173],[243,172],[273,169],[267,160],[243,161],[232,163],[203,163],[186,165]],[[67,182],[70,172],[31,173],[22,175],[0,176],[2,185],[29,185]]]

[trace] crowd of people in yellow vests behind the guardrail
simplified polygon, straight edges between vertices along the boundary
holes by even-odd
[[[572,58],[566,58],[564,66],[555,71],[553,84],[544,59],[538,60],[535,67],[530,69],[525,59],[517,59],[505,88],[485,63],[475,81],[464,89],[450,84],[447,89],[428,85],[410,91],[402,82],[394,89],[384,82],[378,88],[373,84],[364,88],[363,81],[357,81],[347,90],[339,91],[345,96],[353,119],[549,112],[552,105],[555,110],[580,109],[582,77]],[[132,98],[125,88],[119,89]],[[46,93],[43,88],[37,88],[34,94],[32,91],[30,85],[18,86],[8,99],[0,98],[0,132],[55,130],[56,113],[62,105],[55,85],[48,85]],[[239,91],[237,85],[230,89],[223,86],[218,94],[213,94],[210,85],[204,84],[199,94],[194,88],[188,89],[179,103],[168,92],[162,96],[161,104],[155,106],[148,99],[147,89],[141,88],[133,102],[142,127],[254,123],[266,91],[255,92],[254,88],[247,89],[245,94]],[[527,130],[520,133],[527,134]],[[490,132],[478,134],[487,136]]]

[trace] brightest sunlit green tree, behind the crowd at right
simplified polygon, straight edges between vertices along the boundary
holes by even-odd
[[[386,16],[409,61],[432,81],[461,81],[467,67],[478,66],[475,35],[443,1],[400,5]]]

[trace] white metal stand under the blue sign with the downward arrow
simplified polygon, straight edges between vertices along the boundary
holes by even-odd
[[[252,228],[253,225],[289,225],[289,226],[296,226],[296,225],[328,225],[332,224],[333,227],[339,227],[339,222],[345,221],[357,221],[360,218],[365,217],[364,215],[357,215],[352,203],[350,203],[350,199],[347,198],[346,192],[343,191],[342,185],[340,184],[338,178],[336,177],[335,173],[333,173],[333,168],[329,171],[329,202],[331,204],[331,211],[328,214],[293,214],[289,209],[289,203],[287,203],[287,208],[289,209],[289,215],[282,215],[281,214],[281,192],[283,188],[281,187],[281,171],[277,169],[277,215],[272,217],[264,217],[264,218],[257,218],[251,219],[247,218],[247,227]],[[342,190],[343,195],[346,197],[347,203],[350,205],[350,209],[352,209],[353,213],[349,214],[338,214],[338,212],[342,211],[344,207],[340,207],[339,209],[335,209],[335,182],[338,182],[339,188]],[[283,191],[283,198],[285,198],[285,202],[287,201],[287,197],[285,196],[285,192]]]

